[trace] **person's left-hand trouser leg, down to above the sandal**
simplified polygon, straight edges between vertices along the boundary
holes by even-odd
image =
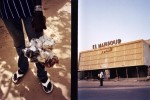
[[[26,73],[29,67],[29,63],[28,59],[22,52],[22,49],[25,48],[25,40],[21,19],[6,19],[3,21],[13,39],[14,46],[19,56],[18,67],[23,73]]]

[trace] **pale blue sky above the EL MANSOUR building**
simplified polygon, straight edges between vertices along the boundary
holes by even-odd
[[[150,0],[78,0],[78,52],[115,39],[150,39]]]

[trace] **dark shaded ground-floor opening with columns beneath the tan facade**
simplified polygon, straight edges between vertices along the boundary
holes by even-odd
[[[106,70],[106,69],[105,69]],[[98,79],[98,73],[100,70],[88,70],[80,72],[80,79]],[[148,76],[148,66],[134,66],[134,67],[122,67],[111,68],[106,71],[110,72],[110,79],[120,78],[137,78]],[[106,73],[107,74],[107,73]]]

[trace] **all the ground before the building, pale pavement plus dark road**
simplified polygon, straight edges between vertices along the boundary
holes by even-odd
[[[104,81],[78,81],[78,100],[150,100],[150,81],[145,79],[122,79]]]

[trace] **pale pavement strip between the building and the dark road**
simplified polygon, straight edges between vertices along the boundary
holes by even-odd
[[[78,88],[97,88],[100,87],[99,80],[79,80]],[[101,88],[113,88],[113,87],[140,87],[150,86],[150,81],[146,81],[146,78],[131,78],[131,79],[120,79],[104,81],[104,86]]]

